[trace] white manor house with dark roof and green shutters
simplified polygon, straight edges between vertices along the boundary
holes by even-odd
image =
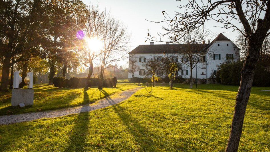
[[[210,73],[213,71],[216,73],[217,65],[223,63],[226,60],[239,60],[239,49],[235,46],[235,44],[225,37],[222,33],[220,33],[211,43],[194,43],[192,45],[198,45],[201,50],[204,52],[212,52],[211,55],[203,55],[200,57],[205,62],[199,62],[197,64],[197,79],[202,79],[205,83],[211,83]],[[132,51],[130,51],[129,58],[138,60],[136,65],[140,67],[140,70],[135,71],[134,77],[144,78],[147,77],[145,67],[143,66],[144,62],[151,57],[162,57],[164,56],[164,52],[168,55],[172,55],[176,57],[176,62],[180,60],[183,61],[183,57],[181,57],[181,53],[178,53],[182,49],[182,44],[158,44],[154,45],[154,42],[150,42],[150,45],[139,45]],[[205,51],[206,50],[206,51]],[[185,60],[185,58],[184,58]],[[181,62],[180,61],[180,62]],[[129,68],[131,68],[131,64],[129,64]],[[196,78],[196,68],[192,71],[192,77]],[[165,74],[158,75],[159,77],[165,77]],[[182,64],[182,70],[178,72],[178,76],[183,78],[190,78],[190,68],[187,65]],[[128,79],[132,78],[132,74],[128,73]]]

